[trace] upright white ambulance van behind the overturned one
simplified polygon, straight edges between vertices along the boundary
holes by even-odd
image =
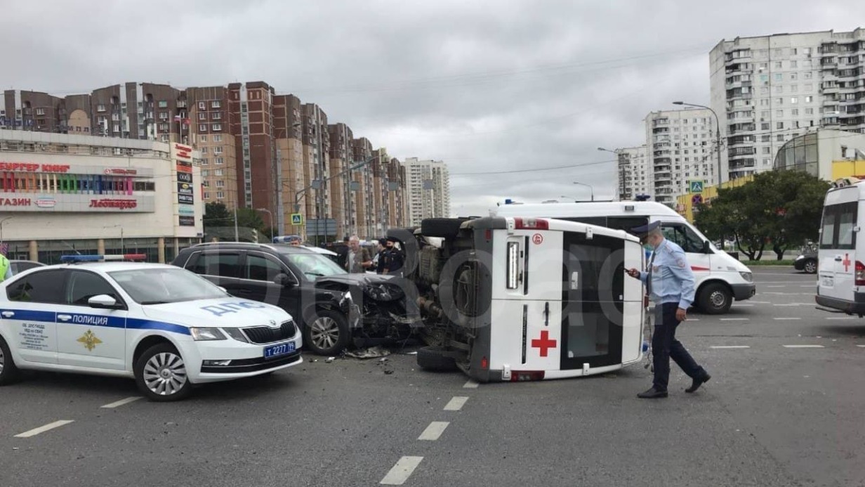
[[[751,269],[719,250],[694,225],[657,201],[506,204],[490,211],[498,217],[558,218],[630,231],[656,220],[663,235],[682,247],[694,271],[694,305],[709,315],[727,313],[733,301],[756,294]]]

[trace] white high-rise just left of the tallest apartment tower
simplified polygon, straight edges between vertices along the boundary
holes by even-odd
[[[656,201],[675,205],[689,181],[714,185],[714,117],[705,108],[651,112],[644,120],[647,159]]]

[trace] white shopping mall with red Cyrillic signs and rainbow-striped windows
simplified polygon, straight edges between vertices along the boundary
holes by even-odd
[[[144,253],[202,238],[199,154],[152,140],[0,130],[0,243],[11,259]]]

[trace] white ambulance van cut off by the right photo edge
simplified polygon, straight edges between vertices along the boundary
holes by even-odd
[[[865,181],[838,179],[823,201],[817,250],[817,304],[827,311],[865,315]]]

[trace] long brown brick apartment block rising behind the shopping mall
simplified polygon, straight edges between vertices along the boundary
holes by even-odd
[[[400,161],[263,81],[185,89],[126,82],[65,97],[6,90],[2,129],[187,143],[202,153],[206,203],[259,210],[283,235],[375,238],[407,226]],[[304,225],[292,225],[294,212]]]

